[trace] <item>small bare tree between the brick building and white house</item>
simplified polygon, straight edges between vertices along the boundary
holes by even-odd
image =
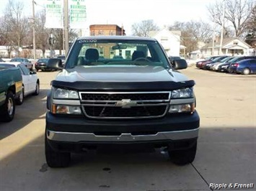
[[[149,37],[150,31],[159,30],[159,27],[154,24],[153,20],[144,20],[138,23],[134,23],[131,26],[133,35],[139,37]]]

